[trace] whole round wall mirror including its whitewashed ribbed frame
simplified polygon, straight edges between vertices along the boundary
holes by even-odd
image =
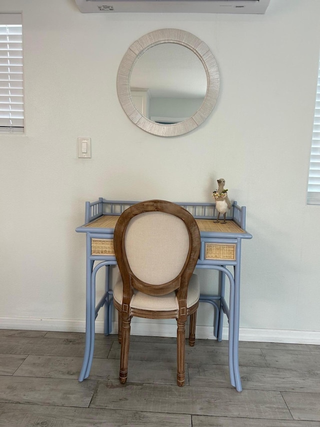
[[[219,73],[208,46],[191,33],[164,29],[134,42],[117,75],[119,101],[145,132],[178,136],[197,128],[219,93]]]

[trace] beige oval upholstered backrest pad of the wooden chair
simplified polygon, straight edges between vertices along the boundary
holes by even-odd
[[[133,274],[143,282],[160,285],[182,270],[189,250],[184,222],[165,212],[144,212],[129,222],[125,252]]]

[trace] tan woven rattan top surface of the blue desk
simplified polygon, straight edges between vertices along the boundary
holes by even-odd
[[[102,215],[89,224],[86,224],[85,227],[114,228],[118,218],[118,215]],[[196,223],[200,231],[215,233],[244,233],[244,230],[242,230],[233,221],[226,221],[225,224],[222,224],[222,222],[216,223],[215,220],[212,219],[197,219]]]

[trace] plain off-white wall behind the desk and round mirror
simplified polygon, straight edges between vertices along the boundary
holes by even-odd
[[[320,207],[306,205],[320,2],[133,16],[1,0],[0,13],[12,12],[23,15],[25,135],[0,134],[2,327],[83,328],[85,245],[74,229],[86,200],[210,202],[222,176],[253,235],[242,245],[241,336],[320,342]],[[128,46],[160,28],[202,39],[221,78],[209,119],[174,139],[135,127],[116,94]],[[91,138],[91,159],[77,159],[78,137]],[[199,275],[205,291],[215,275]]]

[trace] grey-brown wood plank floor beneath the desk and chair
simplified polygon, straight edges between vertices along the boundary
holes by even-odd
[[[240,393],[226,341],[186,345],[184,387],[174,338],[132,336],[125,385],[115,335],[96,335],[90,377],[79,383],[83,349],[81,333],[0,329],[0,426],[320,426],[318,345],[240,342]]]

